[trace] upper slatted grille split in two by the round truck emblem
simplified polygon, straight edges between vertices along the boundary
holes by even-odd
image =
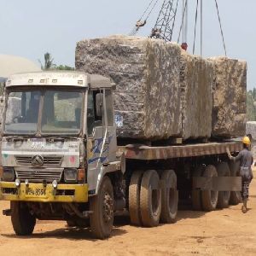
[[[32,166],[32,156],[15,155],[19,166]],[[44,155],[44,166],[61,166],[62,156]]]

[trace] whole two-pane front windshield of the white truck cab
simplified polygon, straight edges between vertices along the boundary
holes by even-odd
[[[43,108],[39,122],[40,101]],[[29,135],[39,130],[42,134],[78,134],[82,106],[83,93],[76,90],[9,92],[4,132]]]

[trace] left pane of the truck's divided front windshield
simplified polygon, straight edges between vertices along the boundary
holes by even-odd
[[[40,96],[41,92],[38,90],[9,93],[5,117],[6,133],[36,133]]]

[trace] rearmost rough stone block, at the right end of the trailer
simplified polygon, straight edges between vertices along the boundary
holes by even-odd
[[[236,137],[246,132],[247,63],[210,58],[214,66],[212,136]]]

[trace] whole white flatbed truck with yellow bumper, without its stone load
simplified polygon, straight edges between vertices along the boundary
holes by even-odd
[[[36,219],[111,235],[116,212],[131,224],[176,221],[178,201],[213,211],[239,203],[240,141],[143,143],[116,137],[111,79],[81,72],[19,73],[7,79],[1,131],[0,200],[17,236]]]

